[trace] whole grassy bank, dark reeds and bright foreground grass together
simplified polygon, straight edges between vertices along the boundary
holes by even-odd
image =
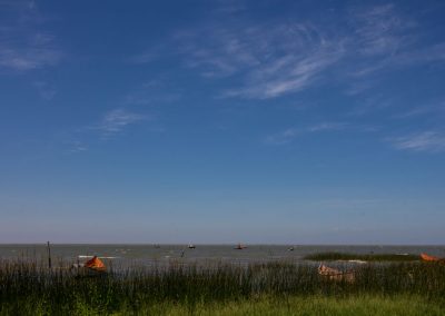
[[[287,315],[289,308],[297,308],[309,315],[332,315],[349,309],[366,313],[378,306],[379,310],[397,310],[382,312],[386,315],[409,315],[412,308],[439,310],[445,306],[442,265],[366,265],[357,267],[355,275],[354,283],[332,282],[320,277],[314,266],[265,264],[208,268],[171,265],[167,269],[134,268],[88,277],[62,268],[49,271],[38,264],[3,261],[0,314],[231,315],[239,309],[258,310],[250,315]],[[363,307],[367,305],[370,309]]]

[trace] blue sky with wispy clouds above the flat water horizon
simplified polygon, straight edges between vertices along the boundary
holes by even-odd
[[[0,243],[443,244],[444,16],[0,0]]]

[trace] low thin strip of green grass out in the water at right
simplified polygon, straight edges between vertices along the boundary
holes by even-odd
[[[363,260],[363,261],[418,261],[418,255],[396,255],[396,254],[347,254],[347,253],[318,253],[306,256],[304,259],[314,261],[334,260]]]

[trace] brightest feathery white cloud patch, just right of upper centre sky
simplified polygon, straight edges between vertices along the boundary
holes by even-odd
[[[198,68],[202,77],[241,76],[240,85],[224,91],[224,97],[268,99],[300,91],[345,52],[342,40],[327,40],[310,24],[210,29],[211,37],[205,30],[177,38],[186,65]],[[202,38],[211,40],[202,45]]]

